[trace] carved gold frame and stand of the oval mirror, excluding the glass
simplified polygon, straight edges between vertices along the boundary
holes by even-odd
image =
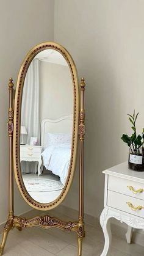
[[[69,175],[67,178],[66,185],[56,200],[51,203],[38,203],[32,199],[26,192],[26,188],[23,183],[20,172],[20,121],[21,121],[21,98],[23,94],[24,78],[26,76],[27,69],[31,64],[32,59],[43,49],[56,49],[62,56],[67,60],[68,66],[71,71],[71,79],[73,81],[73,98],[74,98],[74,108],[73,108],[73,141],[72,141],[72,152],[71,152],[71,166],[69,170]],[[0,246],[0,255],[4,251],[5,242],[7,235],[13,227],[18,230],[22,230],[24,227],[40,226],[43,229],[49,229],[50,227],[57,227],[66,231],[77,232],[78,237],[78,256],[82,255],[82,239],[85,235],[84,231],[84,135],[85,135],[85,110],[84,110],[84,90],[85,81],[84,78],[81,79],[81,106],[79,110],[79,85],[77,81],[77,71],[74,65],[73,59],[68,53],[68,51],[63,48],[63,46],[54,42],[40,43],[31,49],[27,54],[26,58],[21,65],[20,72],[18,75],[18,81],[16,85],[16,95],[15,95],[15,111],[13,110],[13,79],[10,78],[9,81],[9,122],[7,126],[9,134],[9,144],[10,144],[10,179],[9,179],[9,218],[5,224],[4,232],[2,236],[2,243]],[[13,122],[14,119],[14,122]],[[32,207],[38,210],[50,210],[59,203],[63,201],[70,189],[71,182],[74,176],[74,169],[76,165],[76,155],[77,155],[77,138],[79,135],[79,218],[77,221],[61,221],[60,219],[51,217],[49,215],[45,216],[35,216],[31,219],[20,218],[14,215],[13,207],[13,172],[15,172],[15,179],[18,188],[23,196],[24,200]]]

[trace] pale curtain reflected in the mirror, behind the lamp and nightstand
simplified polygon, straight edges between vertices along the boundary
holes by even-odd
[[[26,126],[27,134],[23,135],[24,143],[30,145],[31,137],[37,137],[40,145],[40,108],[39,108],[39,60],[32,60],[24,80],[21,104],[21,126]],[[21,162],[22,172],[37,172],[37,163]]]

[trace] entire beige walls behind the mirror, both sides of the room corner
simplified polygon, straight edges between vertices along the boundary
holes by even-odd
[[[16,81],[30,48],[55,40],[73,56],[87,89],[85,138],[85,213],[103,208],[102,170],[127,159],[121,134],[130,132],[127,113],[140,112],[144,123],[144,2],[141,0],[2,1],[0,9],[0,224],[7,216],[8,139],[6,133],[10,76]],[[54,31],[55,22],[55,31]],[[54,33],[55,32],[55,36]],[[78,175],[64,204],[77,208]],[[92,203],[93,202],[93,203]],[[15,189],[15,213],[28,210]]]

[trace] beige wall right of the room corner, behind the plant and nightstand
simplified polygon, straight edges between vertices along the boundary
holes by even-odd
[[[103,209],[102,170],[127,160],[120,137],[130,133],[127,113],[144,126],[144,2],[57,0],[55,41],[68,49],[85,76],[85,213]],[[64,204],[77,208],[77,181]]]

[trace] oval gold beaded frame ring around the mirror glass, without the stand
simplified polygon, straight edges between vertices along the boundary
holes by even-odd
[[[71,147],[71,161],[70,161],[70,169],[68,172],[67,181],[65,186],[56,200],[50,203],[39,203],[32,199],[32,197],[26,191],[26,188],[23,183],[23,178],[21,175],[21,165],[20,165],[20,123],[21,123],[21,100],[23,95],[23,86],[24,79],[27,73],[27,69],[31,64],[34,57],[45,49],[54,49],[58,51],[67,61],[68,67],[71,72],[71,79],[73,82],[73,139],[72,139],[72,147]],[[26,58],[21,65],[20,72],[18,75],[18,81],[16,84],[16,93],[15,93],[15,112],[14,112],[14,129],[13,129],[13,164],[14,164],[14,173],[16,184],[18,185],[18,189],[21,192],[24,200],[31,207],[37,210],[49,210],[54,207],[57,207],[67,196],[68,190],[70,189],[71,183],[73,181],[74,170],[76,165],[76,155],[77,155],[77,135],[78,135],[78,119],[79,119],[79,85],[77,79],[77,70],[74,64],[74,61],[68,51],[63,48],[61,45],[53,42],[45,42],[36,45],[34,48],[29,51]]]

